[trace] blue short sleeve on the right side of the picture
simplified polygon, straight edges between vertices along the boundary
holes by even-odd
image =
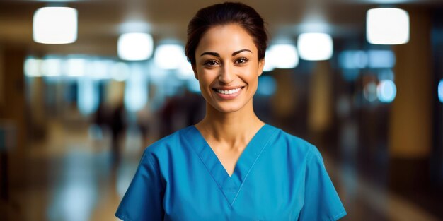
[[[338,220],[345,208],[326,172],[323,158],[313,146],[307,159],[304,205],[299,220]]]

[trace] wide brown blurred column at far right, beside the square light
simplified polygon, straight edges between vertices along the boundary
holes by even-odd
[[[410,40],[393,47],[396,54],[396,99],[389,129],[391,187],[412,190],[429,178],[432,150],[432,54],[430,13],[406,10]]]

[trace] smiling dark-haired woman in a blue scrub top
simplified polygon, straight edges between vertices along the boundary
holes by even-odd
[[[253,95],[267,35],[251,7],[202,8],[186,55],[205,118],[146,148],[122,220],[338,220],[346,215],[313,145],[265,124]]]

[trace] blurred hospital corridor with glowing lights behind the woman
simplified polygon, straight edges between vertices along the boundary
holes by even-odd
[[[218,2],[0,0],[0,220],[117,220],[143,150],[205,116],[186,27]],[[253,110],[316,145],[343,220],[443,220],[443,1],[241,2]]]

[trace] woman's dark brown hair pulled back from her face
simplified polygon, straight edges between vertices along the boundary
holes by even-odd
[[[253,38],[258,49],[258,59],[265,58],[267,32],[263,18],[250,6],[238,2],[225,2],[202,8],[188,24],[188,40],[185,54],[188,61],[195,66],[195,49],[205,32],[217,25],[237,24]]]

